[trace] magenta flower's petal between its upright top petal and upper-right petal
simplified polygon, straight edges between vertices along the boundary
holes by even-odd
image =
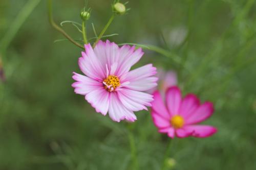
[[[199,99],[194,94],[187,94],[181,102],[180,115],[184,118],[190,116],[200,105]]]

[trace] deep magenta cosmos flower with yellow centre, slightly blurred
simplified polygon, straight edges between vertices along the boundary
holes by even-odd
[[[214,127],[197,125],[214,112],[212,103],[200,104],[194,94],[187,94],[182,99],[181,91],[177,86],[167,89],[166,104],[159,91],[154,92],[153,95],[151,114],[160,133],[167,133],[171,138],[175,136],[183,138],[188,136],[208,137],[217,132]]]

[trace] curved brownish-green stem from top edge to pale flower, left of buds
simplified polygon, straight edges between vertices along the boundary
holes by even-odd
[[[69,41],[71,41],[73,44],[75,44],[76,46],[84,49],[84,47],[76,42],[73,38],[71,38],[64,30],[62,30],[53,20],[52,17],[52,0],[48,0],[48,15],[49,15],[49,21],[52,25],[53,28],[55,28],[58,32],[60,32],[61,34],[63,34]]]

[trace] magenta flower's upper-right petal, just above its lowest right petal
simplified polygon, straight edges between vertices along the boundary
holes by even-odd
[[[185,119],[185,123],[187,124],[197,124],[207,119],[214,113],[214,105],[210,102],[205,102],[201,106],[199,106],[194,113],[190,114]]]

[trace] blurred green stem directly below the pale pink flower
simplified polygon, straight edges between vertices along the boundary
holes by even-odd
[[[130,128],[128,128],[128,137],[129,137],[129,142],[130,142],[130,148],[131,148],[131,158],[133,161],[133,170],[137,170],[139,165],[138,165],[138,159],[137,159],[137,150],[135,147],[135,140],[134,140],[134,135],[133,132]]]

